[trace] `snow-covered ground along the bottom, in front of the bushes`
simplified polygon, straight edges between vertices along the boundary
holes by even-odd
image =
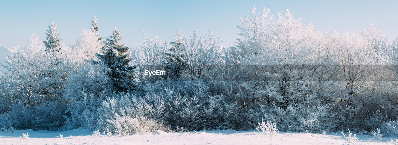
[[[29,138],[21,139],[22,133],[27,133]],[[60,137],[62,134],[62,138]],[[72,138],[69,136],[72,135]],[[58,137],[56,137],[58,136]],[[347,136],[347,135],[346,135]],[[357,135],[355,144],[398,144],[398,138],[383,137],[382,140],[374,139],[369,135]],[[275,135],[261,135],[258,131],[189,131],[178,133],[137,134],[123,137],[94,137],[92,131],[33,131],[16,130],[14,133],[0,133],[0,144],[353,144],[346,141],[341,133],[295,133],[280,132]],[[394,140],[394,142],[391,142]]]

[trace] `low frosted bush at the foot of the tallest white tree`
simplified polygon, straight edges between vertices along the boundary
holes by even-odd
[[[250,109],[247,116],[250,120],[265,118],[277,124],[281,130],[287,131],[331,131],[336,127],[336,118],[330,110],[331,106],[322,104],[309,95],[300,103],[289,103],[286,108],[272,104],[265,106],[259,104],[259,108]],[[314,101],[314,102],[312,102]]]

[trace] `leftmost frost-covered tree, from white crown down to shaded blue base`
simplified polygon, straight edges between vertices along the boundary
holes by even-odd
[[[39,37],[32,35],[25,46],[7,56],[2,80],[6,87],[1,93],[12,100],[7,114],[16,128],[57,130],[62,126],[66,102],[61,94],[75,67],[72,53],[62,48],[62,52],[49,53]]]

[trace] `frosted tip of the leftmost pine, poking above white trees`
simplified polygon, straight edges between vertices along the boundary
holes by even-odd
[[[47,30],[47,37],[46,41],[43,41],[44,46],[46,46],[46,51],[48,52],[51,50],[52,52],[54,51],[59,51],[61,49],[61,39],[59,39],[59,31],[57,30],[57,24],[54,24],[54,22],[49,26],[49,29]]]

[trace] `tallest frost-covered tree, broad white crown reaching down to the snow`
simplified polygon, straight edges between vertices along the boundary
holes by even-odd
[[[310,23],[286,10],[277,19],[263,8],[241,19],[242,38],[230,48],[226,64],[235,64],[245,97],[239,102],[249,111],[249,120],[264,118],[282,130],[330,130],[335,122],[330,112],[333,81],[320,66],[334,64],[333,55],[320,42],[325,39]],[[295,116],[295,117],[291,117]],[[254,118],[253,118],[254,117]],[[258,122],[257,121],[257,122]],[[252,126],[252,124],[247,124]]]

